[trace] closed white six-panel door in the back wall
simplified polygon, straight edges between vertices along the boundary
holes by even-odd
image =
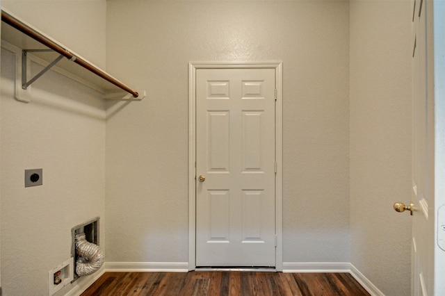
[[[275,69],[196,71],[196,265],[275,266]]]

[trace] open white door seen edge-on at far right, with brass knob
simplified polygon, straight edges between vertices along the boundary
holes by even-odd
[[[427,17],[428,16],[428,17]],[[432,1],[413,1],[413,173],[412,295],[434,292],[435,264],[435,122],[432,57],[428,35]]]

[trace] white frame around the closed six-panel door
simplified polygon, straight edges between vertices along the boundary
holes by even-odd
[[[196,70],[197,69],[275,69],[275,269],[283,270],[283,120],[282,63],[188,63],[188,270],[196,268]]]

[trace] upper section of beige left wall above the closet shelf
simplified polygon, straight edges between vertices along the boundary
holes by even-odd
[[[3,0],[10,13],[104,68],[105,0]]]

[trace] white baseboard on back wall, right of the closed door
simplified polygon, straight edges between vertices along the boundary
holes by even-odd
[[[283,272],[350,272],[347,262],[283,263]]]

